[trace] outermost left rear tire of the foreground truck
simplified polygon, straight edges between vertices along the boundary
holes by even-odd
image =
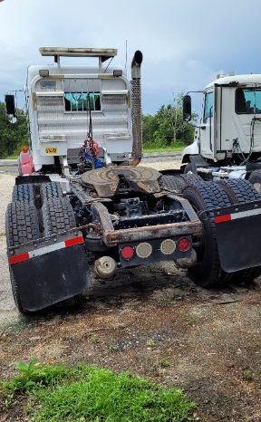
[[[5,231],[7,248],[23,245],[42,237],[34,203],[20,201],[9,204],[5,215]],[[9,272],[15,305],[19,312],[27,314],[29,312],[24,310],[21,303],[19,289],[11,265],[9,265]]]

